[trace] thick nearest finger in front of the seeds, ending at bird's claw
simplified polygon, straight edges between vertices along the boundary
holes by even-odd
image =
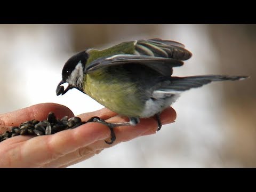
[[[0,154],[4,154],[4,156],[1,156],[0,164],[4,167],[39,167],[80,147],[89,145],[95,140],[106,139],[108,134],[104,125],[99,126],[94,123],[90,126],[82,125],[74,130],[65,130],[53,135],[34,137],[26,142],[11,142],[12,145],[9,145],[10,140],[16,138],[14,137],[1,143]],[[11,162],[8,159],[11,159]]]

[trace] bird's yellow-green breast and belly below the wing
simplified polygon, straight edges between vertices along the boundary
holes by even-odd
[[[115,75],[115,74],[114,74]],[[101,105],[128,117],[139,117],[143,103],[138,100],[135,84],[120,82],[103,70],[85,75],[84,91]]]

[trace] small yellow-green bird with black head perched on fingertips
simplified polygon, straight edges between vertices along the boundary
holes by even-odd
[[[180,93],[212,81],[240,80],[247,76],[203,75],[173,77],[173,67],[183,65],[192,54],[181,43],[162,39],[123,42],[105,50],[86,49],[71,57],[62,69],[57,95],[76,88],[108,109],[129,117],[130,122],[107,123],[99,117],[90,121],[109,127],[111,144],[114,127],[136,125],[139,118],[156,116],[161,129],[161,112]],[[66,89],[61,86],[68,83]]]

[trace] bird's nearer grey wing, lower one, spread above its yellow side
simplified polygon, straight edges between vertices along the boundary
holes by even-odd
[[[131,54],[118,54],[111,57],[103,57],[94,60],[85,68],[85,73],[90,74],[97,69],[103,67],[117,66],[117,65],[146,65],[151,69],[158,71],[164,76],[172,75],[172,67],[183,65],[183,61],[171,58],[151,57],[146,55],[131,55]]]

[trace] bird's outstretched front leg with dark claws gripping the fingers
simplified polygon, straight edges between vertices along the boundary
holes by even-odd
[[[105,141],[107,144],[112,144],[115,140],[116,140],[116,135],[114,132],[114,127],[117,126],[135,126],[140,122],[140,119],[138,117],[130,117],[130,122],[123,122],[123,123],[108,123],[106,122],[104,119],[100,118],[100,117],[92,117],[90,118],[86,123],[88,122],[98,122],[98,123],[102,123],[103,125],[108,126],[108,128],[110,129],[110,141]]]

